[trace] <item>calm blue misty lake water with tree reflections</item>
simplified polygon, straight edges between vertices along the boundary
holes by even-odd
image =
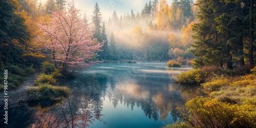
[[[71,89],[70,98],[12,108],[10,122],[21,127],[163,127],[176,122],[171,110],[186,101],[172,78],[190,69],[167,68],[163,62],[100,63],[62,81]]]

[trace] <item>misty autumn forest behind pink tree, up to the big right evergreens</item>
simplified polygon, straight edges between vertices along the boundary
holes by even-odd
[[[15,64],[26,68],[32,64],[38,66],[43,60],[54,60],[56,65],[54,50],[47,47],[49,40],[44,40],[42,36],[46,35],[38,24],[50,23],[55,12],[68,10],[68,2],[5,0],[1,1],[1,5],[0,66]],[[97,3],[92,11],[93,16],[80,18],[88,26],[88,19],[91,19],[91,39],[96,44],[104,42],[100,51],[96,52],[98,55],[91,58],[93,61],[167,61],[178,57],[193,58],[189,52],[189,44],[193,42],[190,23],[195,19],[196,9],[191,1],[176,1],[170,6],[166,1],[150,1],[145,3],[141,12],[131,10],[119,16],[114,11],[106,23],[103,22]],[[123,45],[127,40],[129,45]],[[59,67],[60,63],[58,64]],[[62,62],[61,65],[64,66]]]

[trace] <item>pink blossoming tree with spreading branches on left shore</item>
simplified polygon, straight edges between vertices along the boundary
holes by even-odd
[[[63,11],[53,12],[49,22],[39,22],[44,38],[43,44],[49,51],[55,67],[62,72],[69,69],[86,69],[99,61],[93,61],[103,42],[93,39],[92,28],[87,19],[81,18],[74,2]]]

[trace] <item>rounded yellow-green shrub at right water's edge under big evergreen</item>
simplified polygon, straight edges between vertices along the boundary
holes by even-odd
[[[203,81],[201,78],[200,70],[189,70],[186,72],[181,72],[180,74],[176,75],[177,80],[175,82],[181,84],[193,84],[193,83],[200,83]]]

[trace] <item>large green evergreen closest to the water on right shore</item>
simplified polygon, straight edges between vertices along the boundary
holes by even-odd
[[[203,1],[200,0],[196,4],[199,8],[197,18],[200,23],[193,25],[193,36],[196,41],[194,45],[191,45],[194,50],[195,65],[196,67],[202,67],[207,65],[216,65],[223,67],[224,61],[228,61],[227,52],[223,40],[221,40],[221,34],[218,33],[215,22],[215,17],[221,14],[221,7],[218,2],[212,0]],[[213,10],[215,8],[215,10]],[[210,17],[208,15],[211,15]],[[221,56],[221,57],[220,57]]]

